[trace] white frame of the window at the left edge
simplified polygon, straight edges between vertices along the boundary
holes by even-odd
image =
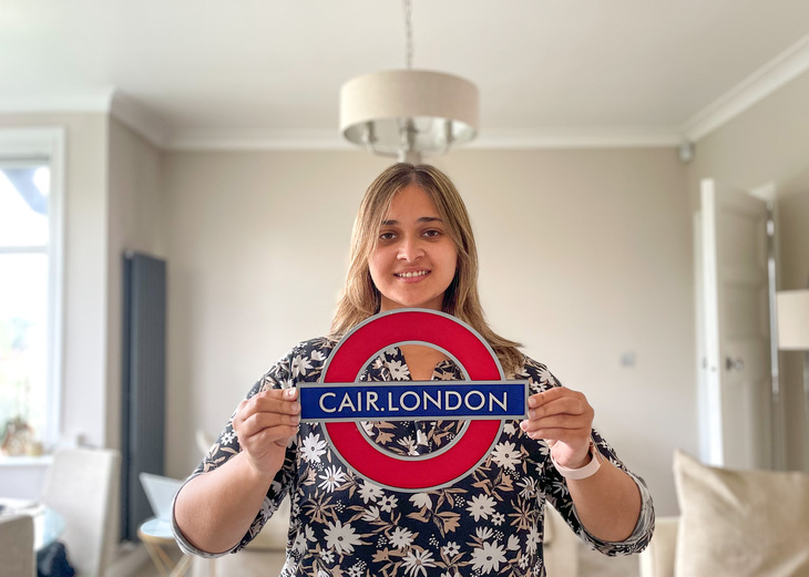
[[[50,168],[48,198],[48,311],[45,450],[59,442],[62,416],[64,327],[65,130],[61,126],[0,128],[0,159],[39,161]]]

